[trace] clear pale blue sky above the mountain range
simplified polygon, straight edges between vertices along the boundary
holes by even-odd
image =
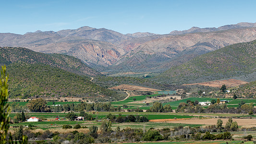
[[[168,34],[192,26],[256,23],[256,0],[0,0],[0,33],[82,26]]]

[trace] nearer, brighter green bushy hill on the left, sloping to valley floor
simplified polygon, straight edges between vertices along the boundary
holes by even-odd
[[[41,64],[18,61],[7,66],[10,97],[85,97],[113,101],[123,97],[90,82],[90,78]]]

